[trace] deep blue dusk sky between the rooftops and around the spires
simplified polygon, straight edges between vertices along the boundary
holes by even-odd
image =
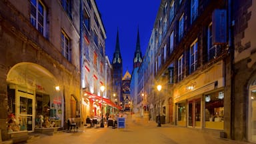
[[[137,29],[142,54],[145,54],[155,17],[159,9],[160,0],[96,0],[101,19],[106,30],[106,55],[113,60],[117,27],[119,29],[119,43],[123,59],[123,75],[133,71],[133,57],[137,41]]]

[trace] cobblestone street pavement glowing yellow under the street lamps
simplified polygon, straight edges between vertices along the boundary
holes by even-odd
[[[221,139],[211,133],[205,133],[200,129],[175,127],[169,124],[157,127],[157,123],[132,122],[127,117],[125,129],[105,128],[81,128],[78,133],[55,133],[53,136],[40,135],[39,138],[30,139],[27,143],[171,143],[171,144],[245,144],[246,142]],[[247,143],[248,144],[248,143]]]

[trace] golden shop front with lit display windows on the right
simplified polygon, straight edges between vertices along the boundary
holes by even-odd
[[[173,89],[175,124],[183,127],[224,129],[223,63],[184,80]]]

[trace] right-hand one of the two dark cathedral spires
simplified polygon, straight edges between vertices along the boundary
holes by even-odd
[[[133,58],[133,68],[139,67],[142,62],[142,53],[141,53],[141,44],[139,42],[139,27],[137,31],[137,43],[136,43],[136,49],[134,53],[134,58]]]

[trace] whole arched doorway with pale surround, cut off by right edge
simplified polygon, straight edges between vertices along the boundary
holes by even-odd
[[[256,142],[256,80],[249,87],[248,139]]]

